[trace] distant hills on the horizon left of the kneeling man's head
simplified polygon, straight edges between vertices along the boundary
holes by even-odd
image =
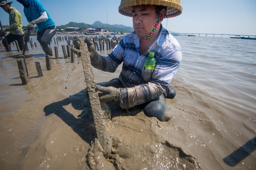
[[[90,24],[86,24],[86,23],[77,23],[77,22],[69,22],[66,25],[59,25],[57,26],[58,29],[65,29],[67,27],[79,27],[79,28],[104,28],[107,29],[110,32],[114,32],[114,31],[124,31],[124,32],[132,32],[134,29],[132,27],[127,27],[125,25],[110,25],[110,24],[106,24],[106,23],[101,23],[100,21],[96,21],[94,22],[92,25]]]

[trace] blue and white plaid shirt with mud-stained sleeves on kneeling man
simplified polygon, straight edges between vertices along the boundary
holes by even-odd
[[[163,94],[178,71],[182,51],[178,41],[161,25],[161,33],[149,50],[140,55],[140,38],[135,32],[123,37],[107,57],[94,57],[92,65],[106,72],[115,72],[123,63],[119,80],[121,88],[119,106],[131,108]],[[145,69],[149,52],[155,52],[156,65],[152,71]]]

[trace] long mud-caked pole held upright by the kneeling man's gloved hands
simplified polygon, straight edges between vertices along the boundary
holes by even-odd
[[[95,91],[97,84],[95,83],[95,80],[94,80],[91,60],[89,57],[87,44],[84,43],[84,40],[82,40],[80,49],[81,49],[82,64],[84,68],[84,77],[85,77],[86,86],[87,86],[86,88],[88,91],[89,100],[91,104],[97,139],[99,140],[100,145],[103,149],[104,157],[108,158],[111,154],[111,139],[110,139],[109,132],[106,128],[105,116],[101,110],[98,92]]]

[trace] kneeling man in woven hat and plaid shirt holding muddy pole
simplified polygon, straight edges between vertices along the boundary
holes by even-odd
[[[95,52],[88,37],[92,65],[102,71],[115,72],[123,63],[119,78],[98,83],[100,101],[118,101],[124,109],[140,105],[146,116],[160,121],[171,118],[165,98],[173,99],[176,92],[169,87],[178,71],[182,52],[178,41],[163,28],[164,18],[180,15],[180,0],[122,0],[119,13],[133,18],[134,31],[123,37],[107,57]],[[73,42],[75,47],[79,44]],[[155,53],[153,70],[145,67],[149,52]],[[149,76],[148,76],[149,75]]]

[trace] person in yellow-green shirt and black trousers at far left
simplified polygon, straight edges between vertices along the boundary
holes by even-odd
[[[9,35],[6,36],[8,44],[6,44],[6,40],[3,39],[2,43],[7,50],[7,46],[9,46],[10,43],[17,40],[20,50],[23,50],[24,47],[24,32],[22,30],[22,19],[21,14],[18,10],[15,9],[15,7],[11,6],[12,2],[3,1],[0,0],[0,6],[3,8],[5,12],[9,14],[9,24],[10,26],[7,28],[3,28],[0,30],[0,36],[4,36],[6,31],[10,31]],[[10,47],[10,46],[9,46]],[[11,47],[10,47],[11,49]]]

